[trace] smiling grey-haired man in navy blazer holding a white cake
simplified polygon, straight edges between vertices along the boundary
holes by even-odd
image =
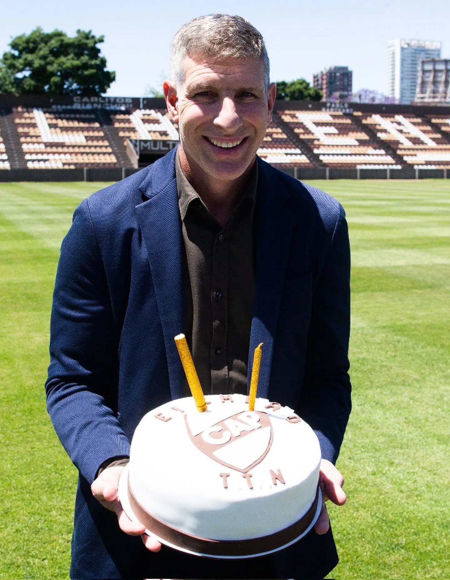
[[[61,247],[46,391],[79,469],[71,578],[323,578],[338,561],[325,507],[290,548],[230,561],[161,547],[117,496],[140,418],[187,394],[173,340],[184,332],[205,393],[246,393],[248,353],[264,342],[259,396],[315,429],[322,490],[345,501],[333,465],[350,413],[343,209],[256,158],[275,85],[246,20],[185,24],[171,77],[179,147],[82,202]]]

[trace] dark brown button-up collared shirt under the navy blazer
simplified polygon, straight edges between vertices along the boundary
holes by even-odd
[[[185,334],[198,378],[205,394],[246,394],[257,164],[224,227],[184,176],[178,156],[176,178],[186,250]],[[190,396],[186,380],[184,396]]]

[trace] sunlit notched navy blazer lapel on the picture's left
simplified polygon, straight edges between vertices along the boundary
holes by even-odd
[[[183,396],[184,371],[174,337],[184,328],[182,229],[175,179],[175,151],[152,167],[140,186],[148,198],[136,206],[157,297],[172,399]]]

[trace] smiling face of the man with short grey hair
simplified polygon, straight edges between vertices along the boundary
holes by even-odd
[[[261,61],[213,64],[185,57],[183,85],[176,92],[166,81],[164,91],[170,117],[179,124],[180,161],[188,177],[223,182],[251,168],[276,93],[275,85],[266,93]]]

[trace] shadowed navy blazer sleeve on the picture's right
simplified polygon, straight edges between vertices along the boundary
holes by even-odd
[[[306,368],[299,408],[322,457],[335,463],[351,411],[349,378],[350,244],[339,205],[331,241],[313,287]]]

